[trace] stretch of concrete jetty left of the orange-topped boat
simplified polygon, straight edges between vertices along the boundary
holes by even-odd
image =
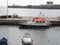
[[[18,17],[18,18],[0,18],[0,24],[19,24],[25,21],[31,20],[29,17]]]

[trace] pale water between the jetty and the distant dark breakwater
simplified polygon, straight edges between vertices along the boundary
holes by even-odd
[[[26,8],[8,8],[8,14],[17,14],[18,16],[39,16],[40,12],[45,17],[57,17],[60,16],[60,9],[26,9]],[[0,15],[7,14],[6,6],[0,6]],[[42,14],[42,15],[43,15]]]

